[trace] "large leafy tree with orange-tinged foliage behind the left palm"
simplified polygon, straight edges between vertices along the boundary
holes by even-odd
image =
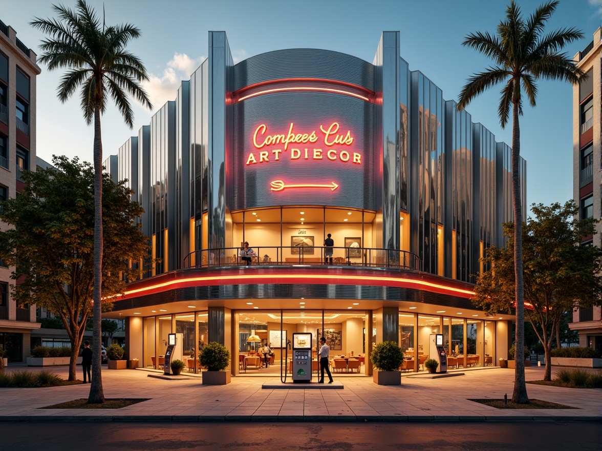
[[[12,227],[0,232],[0,257],[16,267],[14,280],[23,279],[12,287],[17,303],[45,306],[61,319],[71,341],[69,380],[76,380],[79,347],[93,313],[95,174],[77,158],[54,157],[53,164],[57,169],[24,171],[25,192],[2,203],[0,219]],[[135,224],[142,208],[131,200],[132,191],[107,174],[102,183],[103,222],[110,230],[102,261],[102,304],[107,309],[111,297],[125,289],[120,273],[138,274],[128,260],[147,259],[149,246]]]

